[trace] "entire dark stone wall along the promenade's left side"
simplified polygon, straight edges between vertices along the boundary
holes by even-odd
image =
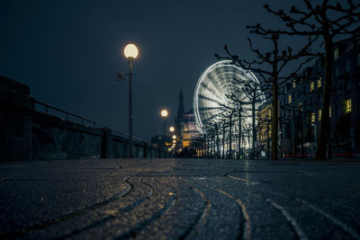
[[[0,76],[0,160],[129,157],[129,139],[34,110],[29,87]],[[134,157],[171,157],[134,140]]]

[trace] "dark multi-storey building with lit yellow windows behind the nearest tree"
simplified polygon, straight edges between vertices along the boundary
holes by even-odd
[[[333,51],[333,80],[329,108],[333,156],[360,156],[360,52],[358,40],[343,41]],[[280,89],[282,156],[315,154],[319,137],[324,59],[302,71],[302,77]]]

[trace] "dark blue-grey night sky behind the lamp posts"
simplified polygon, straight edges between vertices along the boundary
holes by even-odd
[[[122,49],[134,62],[134,135],[149,140],[173,122],[183,86],[185,111],[202,71],[228,44],[251,58],[246,24],[276,24],[262,8],[289,1],[6,1],[0,2],[0,75],[31,87],[31,95],[128,132],[129,83]]]

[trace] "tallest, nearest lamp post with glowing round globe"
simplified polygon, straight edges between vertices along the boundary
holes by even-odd
[[[124,49],[124,55],[129,60],[129,135],[130,135],[130,149],[129,149],[129,157],[133,156],[133,138],[132,138],[132,61],[138,57],[139,50],[134,44],[126,45]]]

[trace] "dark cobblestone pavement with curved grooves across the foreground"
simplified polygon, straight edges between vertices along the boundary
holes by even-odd
[[[360,239],[360,162],[0,163],[0,238]]]

